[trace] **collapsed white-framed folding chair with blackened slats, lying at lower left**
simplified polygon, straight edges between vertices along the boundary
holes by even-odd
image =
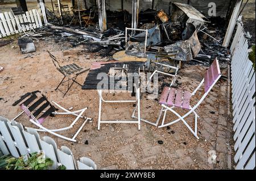
[[[87,123],[88,120],[92,120],[91,118],[82,116],[85,110],[87,110],[87,107],[83,108],[82,110],[71,112],[61,107],[59,104],[53,101],[52,103],[55,104],[64,112],[57,112],[58,109],[52,106],[52,104],[47,100],[47,97],[43,95],[40,91],[28,92],[27,94],[20,96],[20,99],[16,100],[16,102],[13,104],[13,106],[16,106],[17,104],[19,104],[20,108],[23,110],[13,120],[16,120],[20,115],[22,115],[23,113],[26,113],[26,115],[30,118],[30,122],[40,128],[40,129],[35,129],[36,131],[48,132],[57,137],[63,138],[65,140],[76,142],[75,138],[77,137],[79,132],[82,130],[84,125]],[[46,121],[46,118],[48,116],[54,116],[54,115],[73,115],[73,116],[76,116],[76,119],[72,122],[71,125],[65,128],[57,128],[57,129],[45,128],[42,124],[44,123],[44,121]],[[56,132],[65,131],[73,128],[73,126],[76,124],[79,118],[84,119],[84,123],[82,123],[81,127],[77,130],[77,132],[74,134],[72,138],[65,137],[65,136],[62,136],[61,134],[56,133]]]

